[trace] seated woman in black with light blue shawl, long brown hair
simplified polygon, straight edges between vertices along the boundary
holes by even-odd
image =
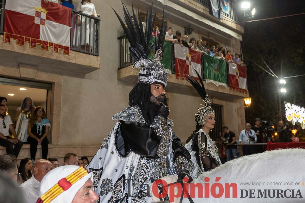
[[[47,115],[42,107],[36,107],[29,119],[29,127],[27,133],[29,137],[27,141],[30,143],[31,159],[35,162],[37,146],[41,145],[42,159],[47,159],[48,156],[48,138],[50,122],[46,118]]]

